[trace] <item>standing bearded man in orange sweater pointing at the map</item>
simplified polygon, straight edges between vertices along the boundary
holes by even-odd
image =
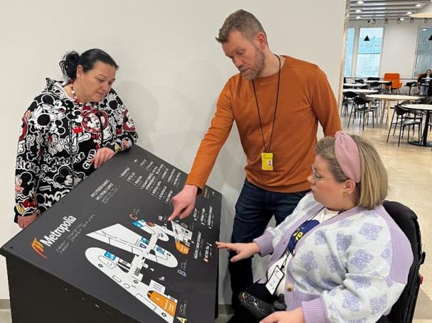
[[[341,130],[336,100],[317,65],[270,51],[255,16],[239,10],[216,38],[240,73],[223,87],[186,185],[173,200],[170,220],[187,217],[236,121],[246,153],[246,180],[236,204],[232,242],[251,242],[274,215],[279,224],[310,190],[318,121],[326,136]],[[231,257],[234,253],[231,253]],[[251,259],[231,263],[233,303],[253,283]]]

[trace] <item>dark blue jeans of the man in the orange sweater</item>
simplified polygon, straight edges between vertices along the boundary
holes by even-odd
[[[236,203],[231,242],[252,242],[253,239],[264,233],[273,215],[276,224],[280,224],[285,217],[293,213],[298,202],[307,192],[270,192],[245,180]],[[235,251],[230,252],[229,258],[231,259],[233,256],[236,256]],[[240,305],[238,293],[253,284],[252,258],[236,263],[230,261],[228,270],[231,275],[231,290],[233,291],[231,305],[236,310]]]

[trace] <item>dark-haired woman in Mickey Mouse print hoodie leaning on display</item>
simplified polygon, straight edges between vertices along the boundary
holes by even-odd
[[[22,119],[14,219],[22,229],[137,141],[129,111],[112,89],[118,65],[110,55],[72,51],[60,67],[65,82],[47,78]]]

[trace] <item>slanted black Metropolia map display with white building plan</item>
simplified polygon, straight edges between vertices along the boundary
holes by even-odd
[[[190,217],[168,222],[171,199],[185,181],[186,173],[135,146],[75,187],[1,248],[13,319],[20,295],[31,298],[32,288],[14,276],[19,271],[23,278],[28,265],[33,289],[41,289],[36,280],[47,280],[49,292],[52,277],[100,301],[103,313],[112,307],[137,322],[212,322],[221,194],[206,186]],[[55,300],[63,289],[52,291]],[[48,297],[40,291],[35,297],[41,295]],[[44,303],[35,304],[43,316]],[[31,311],[28,302],[23,308]]]

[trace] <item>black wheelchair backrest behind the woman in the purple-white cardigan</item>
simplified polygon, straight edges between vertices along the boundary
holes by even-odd
[[[418,270],[426,257],[426,253],[421,250],[421,233],[418,218],[413,210],[399,202],[384,201],[383,206],[411,242],[413,264],[399,300],[391,307],[390,313],[386,317],[381,317],[378,322],[411,323],[416,308],[418,290],[423,282],[423,277],[418,273]]]

